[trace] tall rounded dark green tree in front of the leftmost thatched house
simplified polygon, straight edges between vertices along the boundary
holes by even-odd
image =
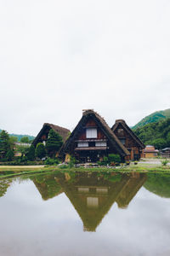
[[[51,129],[48,133],[48,140],[46,143],[48,156],[54,157],[55,154],[59,151],[59,148],[61,148],[62,144],[63,138],[59,135],[58,132],[55,132],[53,129]]]

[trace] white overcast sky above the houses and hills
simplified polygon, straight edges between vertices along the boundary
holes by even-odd
[[[169,0],[1,0],[0,129],[135,125],[170,108]]]

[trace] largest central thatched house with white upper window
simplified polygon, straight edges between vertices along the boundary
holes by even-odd
[[[96,162],[108,154],[119,154],[124,161],[130,155],[105,119],[92,109],[83,111],[82,119],[59,151],[63,160],[68,154],[80,162]]]

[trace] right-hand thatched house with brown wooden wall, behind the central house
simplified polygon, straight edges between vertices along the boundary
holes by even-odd
[[[130,153],[130,160],[143,157],[144,143],[141,142],[123,119],[117,119],[111,130]]]

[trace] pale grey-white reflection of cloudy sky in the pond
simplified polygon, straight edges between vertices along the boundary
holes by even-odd
[[[96,232],[83,232],[64,193],[42,201],[32,182],[14,183],[0,206],[2,256],[170,255],[170,200],[144,188],[127,209],[115,202]]]

